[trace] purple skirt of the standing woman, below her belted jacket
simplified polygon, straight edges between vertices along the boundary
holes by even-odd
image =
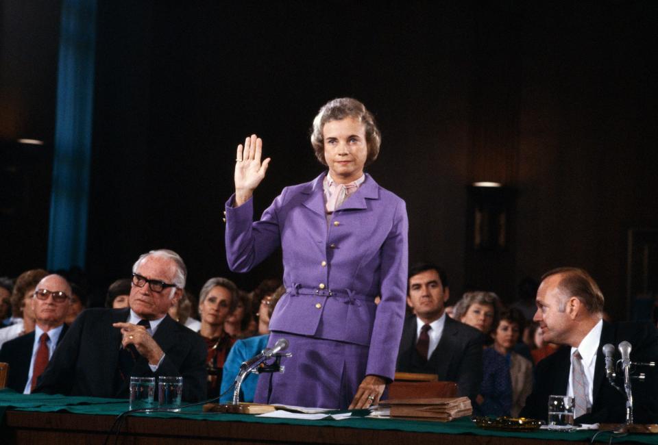
[[[347,409],[365,377],[368,347],[279,331],[267,347],[280,338],[293,356],[282,358],[285,372],[260,374],[254,402]]]

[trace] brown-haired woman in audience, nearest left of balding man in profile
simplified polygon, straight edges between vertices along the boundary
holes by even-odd
[[[504,409],[498,410],[500,414],[508,414],[507,407],[510,406],[509,414],[513,417],[519,415],[521,409],[526,405],[526,397],[533,391],[533,364],[530,360],[514,352],[514,346],[519,341],[524,322],[523,314],[519,309],[511,308],[503,311],[500,314],[498,325],[491,331],[493,346],[486,348],[483,352],[485,378],[480,394],[485,398],[486,405],[504,407]],[[500,370],[493,369],[496,364],[502,362],[501,359],[504,359],[505,366],[502,366]],[[507,392],[507,387],[495,387],[497,376],[493,375],[494,372],[503,372],[505,368],[509,369],[511,394]],[[485,391],[485,387],[487,391]],[[501,389],[502,392],[496,392]],[[510,399],[507,399],[508,394],[511,396]],[[487,396],[493,400],[487,401]],[[497,396],[505,399],[495,400]]]

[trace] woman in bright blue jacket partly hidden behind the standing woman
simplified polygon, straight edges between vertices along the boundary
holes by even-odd
[[[261,335],[236,341],[231,348],[230,353],[228,353],[226,363],[224,364],[224,372],[221,376],[221,402],[226,403],[233,400],[233,392],[228,391],[228,389],[238,375],[240,365],[243,361],[254,357],[254,355],[263,351],[265,346],[267,346],[267,340],[269,340],[269,318],[272,316],[272,312],[274,312],[274,307],[276,306],[276,303],[278,303],[279,298],[281,298],[285,292],[286,288],[280,286],[273,294],[261,298],[260,308],[258,309],[258,332]],[[265,320],[267,320],[267,322],[265,322]],[[261,331],[261,328],[263,331]],[[258,383],[258,374],[249,374],[243,380],[240,387],[241,402],[254,401],[256,383]]]

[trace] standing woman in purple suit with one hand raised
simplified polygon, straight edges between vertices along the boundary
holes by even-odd
[[[269,345],[286,338],[293,354],[284,359],[284,373],[258,380],[255,401],[369,407],[395,374],[406,298],[406,207],[363,172],[380,146],[363,103],[326,103],[310,139],[328,172],[284,188],[255,223],[252,194],[270,158],[261,163],[256,135],[236,153],[235,194],[226,203],[228,264],[247,272],[281,246],[287,292],[272,315]]]

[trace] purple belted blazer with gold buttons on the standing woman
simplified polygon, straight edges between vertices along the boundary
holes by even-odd
[[[325,175],[284,188],[255,223],[252,199],[233,208],[232,196],[228,265],[247,272],[281,246],[287,292],[270,329],[369,346],[366,374],[392,380],[406,304],[406,205],[366,175],[327,227]]]

